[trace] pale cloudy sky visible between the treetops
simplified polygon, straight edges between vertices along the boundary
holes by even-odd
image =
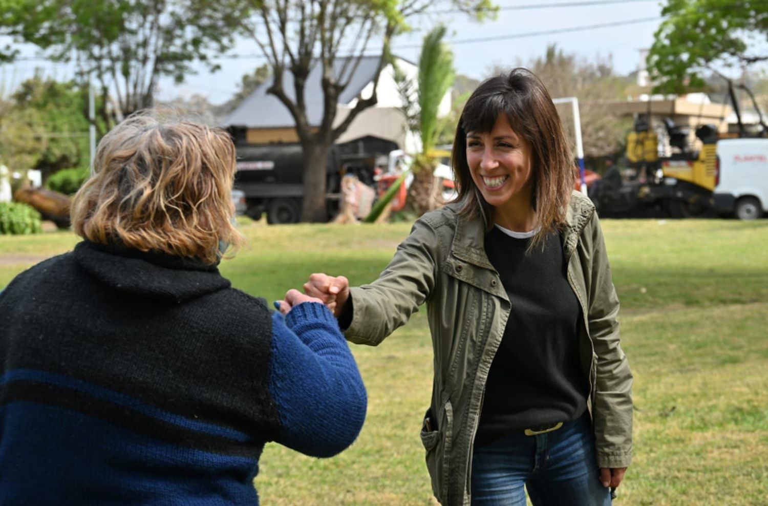
[[[472,78],[487,77],[495,65],[525,65],[531,59],[544,55],[547,46],[552,44],[588,61],[610,57],[619,74],[636,71],[641,64],[640,50],[650,47],[654,31],[660,24],[660,2],[613,0],[615,3],[602,5],[571,5],[587,2],[496,0],[495,4],[501,8],[498,17],[482,23],[471,21],[461,14],[419,16],[411,21],[414,28],[411,33],[399,35],[392,42],[392,52],[407,60],[417,61],[425,33],[437,23],[444,22],[449,28],[446,41],[454,51],[456,71]],[[553,4],[557,6],[546,7]],[[446,8],[448,2],[435,3],[435,10]],[[559,33],[554,33],[556,31]],[[33,47],[19,47],[22,48],[22,55],[35,55]],[[264,62],[263,58],[253,57],[258,52],[255,42],[246,39],[237,41],[230,55],[250,56],[222,58],[219,61],[222,68],[214,74],[200,65],[197,74],[188,76],[182,84],[162,79],[158,96],[161,100],[168,100],[202,94],[214,104],[227,101],[237,91],[241,76]],[[7,93],[9,88],[15,88],[18,83],[30,77],[35,68],[42,68],[46,76],[58,79],[66,79],[73,74],[71,66],[50,61],[18,61],[15,64],[0,65],[0,94],[3,91]]]

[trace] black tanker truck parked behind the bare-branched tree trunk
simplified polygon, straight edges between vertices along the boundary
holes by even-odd
[[[266,212],[268,223],[297,223],[304,196],[301,145],[236,142],[235,148],[235,188],[245,193],[246,214],[260,219]],[[386,171],[389,154],[394,150],[398,150],[394,142],[372,136],[331,147],[326,180],[328,219],[339,210],[341,178],[354,174],[373,187],[376,167]]]

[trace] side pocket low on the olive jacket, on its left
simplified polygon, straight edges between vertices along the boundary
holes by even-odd
[[[449,462],[453,440],[453,406],[445,402],[435,425],[432,408],[425,415],[422,425],[422,445],[426,450],[427,469],[432,480],[432,492],[441,504],[448,502]],[[429,419],[429,424],[426,421]],[[432,430],[427,430],[431,428]]]

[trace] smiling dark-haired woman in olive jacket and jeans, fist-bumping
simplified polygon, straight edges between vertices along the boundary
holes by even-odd
[[[632,376],[598,217],[541,81],[484,81],[458,121],[458,198],[417,220],[373,283],[304,285],[376,346],[426,303],[422,442],[443,504],[611,503],[631,458]]]

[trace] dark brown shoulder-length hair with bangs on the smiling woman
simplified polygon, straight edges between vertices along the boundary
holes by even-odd
[[[539,78],[525,68],[515,68],[486,79],[465,104],[453,141],[451,164],[462,215],[479,214],[488,229],[493,226],[494,208],[482,197],[467,164],[467,132],[492,131],[500,114],[531,146],[531,203],[541,227],[531,240],[531,251],[565,223],[574,187],[574,160],[558,111]]]

